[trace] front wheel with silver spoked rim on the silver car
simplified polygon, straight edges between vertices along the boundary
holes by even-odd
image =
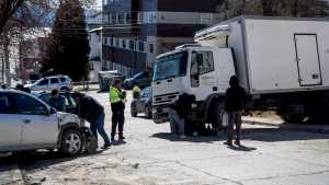
[[[81,152],[83,148],[81,132],[77,129],[67,130],[61,138],[61,152],[65,155],[73,157]]]

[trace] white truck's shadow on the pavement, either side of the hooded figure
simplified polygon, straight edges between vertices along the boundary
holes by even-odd
[[[188,137],[180,139],[169,132],[154,134],[151,137],[166,139],[169,141],[189,141],[189,142],[207,142],[226,140],[226,135],[202,135],[197,137]],[[242,140],[256,140],[263,142],[279,142],[279,141],[296,141],[296,140],[317,140],[329,139],[329,135],[314,134],[309,131],[287,130],[283,128],[245,128],[242,129]]]

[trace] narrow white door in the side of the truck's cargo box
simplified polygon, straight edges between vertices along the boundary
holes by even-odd
[[[322,83],[316,34],[295,34],[296,61],[299,85],[310,86]]]

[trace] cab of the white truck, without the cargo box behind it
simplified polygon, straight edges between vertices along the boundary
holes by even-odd
[[[235,74],[230,48],[200,45],[183,45],[160,55],[154,69],[152,113],[157,124],[168,120],[168,106],[183,93],[195,96],[192,107],[186,107],[191,109],[189,123],[207,123],[209,106],[220,100],[223,103],[229,78]]]

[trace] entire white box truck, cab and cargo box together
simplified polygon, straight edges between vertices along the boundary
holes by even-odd
[[[286,122],[329,114],[328,20],[239,16],[197,32],[195,43],[158,56],[155,123],[167,122],[167,107],[188,93],[195,102],[186,107],[186,129],[219,126],[235,74],[250,109],[275,108]]]

